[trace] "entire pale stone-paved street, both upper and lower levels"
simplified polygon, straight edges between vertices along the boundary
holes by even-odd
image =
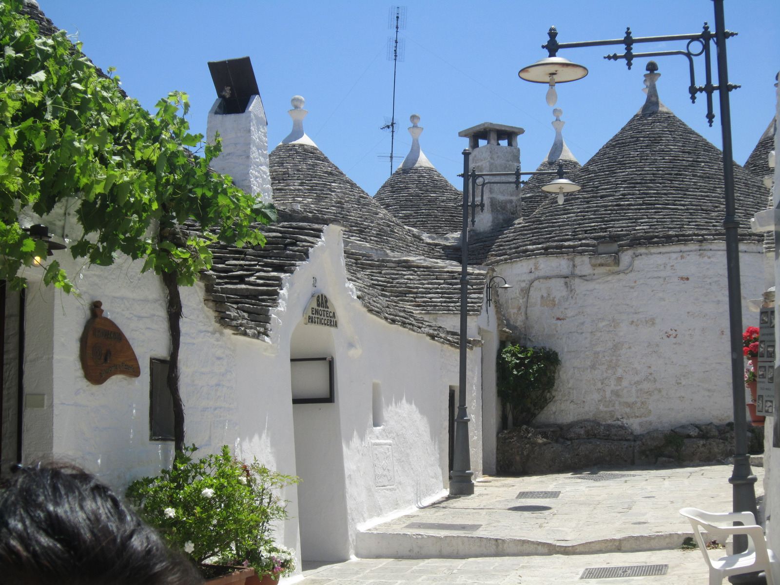
[[[753,467],[757,495],[763,493],[763,471]],[[679,549],[690,525],[678,510],[686,505],[731,509],[730,474],[731,466],[714,465],[486,477],[473,497],[449,498],[360,533],[358,555],[365,558],[304,563],[302,583],[705,585],[700,551]],[[521,491],[561,493],[557,498],[519,499]],[[407,527],[411,523],[472,526],[434,530]],[[495,550],[505,552],[490,554]],[[710,551],[713,558],[724,554]],[[668,572],[580,580],[588,568],[642,565],[668,565]]]

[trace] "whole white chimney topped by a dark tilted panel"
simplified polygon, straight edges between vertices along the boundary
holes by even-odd
[[[222,138],[222,154],[211,161],[217,172],[258,200],[270,203],[268,122],[249,57],[208,63],[217,101],[208,112],[206,140]]]

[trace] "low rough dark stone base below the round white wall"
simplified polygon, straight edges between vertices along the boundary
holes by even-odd
[[[560,473],[587,467],[722,463],[734,454],[733,424],[683,424],[633,434],[625,424],[579,420],[515,427],[498,434],[498,473]],[[764,429],[748,427],[750,452],[763,452]]]

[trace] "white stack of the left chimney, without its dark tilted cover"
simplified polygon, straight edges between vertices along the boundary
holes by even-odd
[[[268,172],[268,122],[259,95],[250,97],[241,114],[219,114],[222,97],[208,112],[206,140],[214,144],[216,133],[222,138],[222,153],[211,161],[211,167],[246,193],[271,201],[271,175]]]

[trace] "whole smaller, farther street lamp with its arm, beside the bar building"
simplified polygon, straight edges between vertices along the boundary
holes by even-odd
[[[452,471],[449,474],[449,494],[450,495],[472,495],[474,493],[474,482],[471,480],[473,471],[471,470],[471,455],[469,451],[469,421],[471,420],[466,410],[466,353],[468,346],[468,298],[469,298],[469,207],[471,207],[471,225],[476,221],[477,207],[484,211],[484,187],[486,185],[513,184],[516,190],[526,183],[520,179],[523,175],[556,175],[543,190],[550,193],[558,193],[558,203],[563,203],[563,193],[572,193],[580,190],[580,186],[564,179],[563,164],[558,163],[557,171],[534,171],[520,172],[519,165],[513,172],[477,172],[472,168],[469,170],[469,158],[471,151],[466,148],[463,150],[463,172],[459,177],[463,177],[463,229],[460,236],[461,261],[460,261],[460,361],[459,361],[459,380],[458,380],[458,412],[455,417],[455,449],[452,454]],[[488,180],[497,177],[513,176],[513,180]],[[480,187],[480,203],[477,204],[477,186]],[[469,191],[471,191],[471,201],[469,201]],[[492,302],[490,286],[494,278],[488,282],[488,302]],[[512,288],[506,284],[502,289]]]

